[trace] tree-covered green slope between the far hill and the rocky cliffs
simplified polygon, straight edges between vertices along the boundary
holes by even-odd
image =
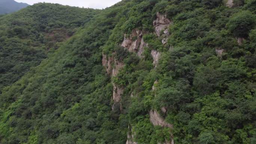
[[[100,49],[119,21],[120,10],[122,5],[95,16],[84,30],[4,89],[1,143],[125,143],[126,132],[116,130],[118,116],[112,118],[112,85],[101,66]]]

